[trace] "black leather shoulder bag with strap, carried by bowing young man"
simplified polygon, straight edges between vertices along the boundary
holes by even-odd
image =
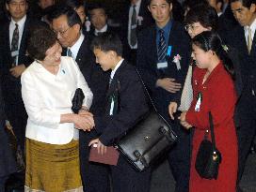
[[[146,85],[139,72],[136,72],[151,100],[152,111],[117,141],[116,146],[120,154],[124,155],[136,170],[142,171],[167,151],[177,140],[177,136],[165,118],[157,112]]]

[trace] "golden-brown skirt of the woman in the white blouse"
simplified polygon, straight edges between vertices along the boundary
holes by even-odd
[[[26,139],[25,192],[83,192],[78,140],[56,145]]]

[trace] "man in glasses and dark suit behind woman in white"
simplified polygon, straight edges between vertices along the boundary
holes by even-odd
[[[63,54],[72,56],[80,67],[88,86],[93,93],[92,106],[89,109],[93,114],[104,113],[105,94],[108,87],[109,73],[102,71],[96,65],[93,52],[89,49],[88,34],[81,30],[81,20],[72,7],[57,7],[51,15],[52,26],[63,49]],[[88,142],[98,137],[97,132],[79,132],[80,166],[85,191],[105,191],[109,186],[107,170],[102,165],[88,162]],[[99,174],[100,173],[100,174]],[[101,186],[97,186],[101,182]],[[98,190],[95,190],[98,187]]]

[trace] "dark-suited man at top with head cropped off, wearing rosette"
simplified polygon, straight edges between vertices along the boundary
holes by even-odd
[[[134,10],[136,12],[136,22],[132,23]],[[130,0],[125,7],[121,21],[121,41],[123,57],[132,65],[136,65],[137,34],[152,23],[152,16],[147,8],[147,0]],[[136,32],[135,37],[132,37],[132,31]],[[135,39],[133,40],[133,38]]]

